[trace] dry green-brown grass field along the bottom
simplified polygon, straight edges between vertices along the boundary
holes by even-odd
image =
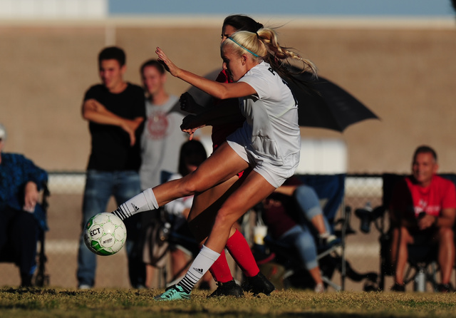
[[[0,317],[455,317],[456,294],[281,290],[266,297],[155,302],[162,290],[0,289]]]

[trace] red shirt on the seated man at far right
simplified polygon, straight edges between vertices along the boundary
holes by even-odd
[[[426,212],[435,217],[442,209],[456,207],[456,188],[450,180],[438,175],[432,177],[429,186],[423,188],[407,177],[395,186],[390,210],[399,210],[408,217],[418,217]]]

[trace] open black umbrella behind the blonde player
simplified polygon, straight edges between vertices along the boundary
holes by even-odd
[[[208,73],[205,78],[214,80],[219,70]],[[297,78],[309,83],[312,89],[301,83],[289,81],[289,87],[299,105],[299,125],[304,127],[328,128],[342,132],[348,125],[369,118],[378,119],[366,106],[326,78],[312,78],[310,73],[301,73]],[[198,88],[188,91],[201,106],[212,106],[213,98]],[[180,111],[180,104],[171,111]]]

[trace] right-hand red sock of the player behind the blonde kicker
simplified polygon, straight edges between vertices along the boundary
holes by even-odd
[[[254,277],[259,273],[259,268],[254,259],[254,255],[252,254],[252,250],[250,250],[249,243],[247,243],[244,235],[238,230],[229,237],[227,241],[227,250],[237,262],[237,265],[241,267],[244,275],[247,277]]]

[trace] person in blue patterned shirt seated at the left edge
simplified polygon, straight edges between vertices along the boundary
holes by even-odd
[[[41,186],[48,173],[24,155],[4,153],[6,129],[0,124],[0,259],[15,262],[21,286],[32,285],[36,269],[36,244],[40,226],[46,227],[38,210]]]

